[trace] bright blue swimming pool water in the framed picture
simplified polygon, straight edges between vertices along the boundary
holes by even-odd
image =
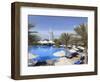
[[[28,52],[33,55],[37,55],[37,57],[34,59],[40,62],[59,58],[53,54],[62,50],[66,51],[65,48],[56,48],[53,46],[31,46],[28,48]]]

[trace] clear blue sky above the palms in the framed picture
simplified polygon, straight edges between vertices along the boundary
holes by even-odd
[[[35,25],[31,31],[37,31],[42,39],[48,39],[50,31],[54,33],[54,38],[58,38],[62,33],[73,33],[74,28],[79,24],[87,24],[87,17],[70,16],[41,16],[29,15],[28,23]]]

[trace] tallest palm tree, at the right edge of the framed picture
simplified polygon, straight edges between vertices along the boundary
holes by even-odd
[[[84,44],[85,47],[85,54],[86,54],[86,60],[85,63],[88,62],[88,56],[87,56],[87,48],[88,48],[88,31],[87,31],[87,25],[86,24],[80,24],[78,27],[74,28],[75,32],[81,37],[81,42]]]

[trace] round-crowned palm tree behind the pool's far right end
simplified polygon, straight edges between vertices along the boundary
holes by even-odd
[[[62,33],[60,36],[61,43],[66,45],[66,47],[68,46],[70,39],[71,39],[71,34],[69,33]]]

